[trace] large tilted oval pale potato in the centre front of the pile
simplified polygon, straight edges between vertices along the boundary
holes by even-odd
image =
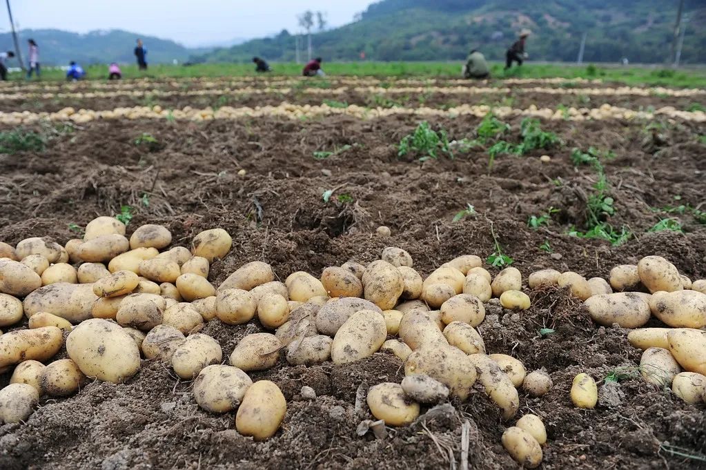
[[[333,337],[331,360],[341,365],[372,356],[385,342],[388,329],[381,313],[357,311],[350,315]]]

